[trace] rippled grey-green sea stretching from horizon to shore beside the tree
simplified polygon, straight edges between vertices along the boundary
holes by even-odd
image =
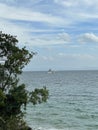
[[[27,106],[33,130],[98,130],[98,71],[24,72],[20,80],[49,90],[46,103]]]

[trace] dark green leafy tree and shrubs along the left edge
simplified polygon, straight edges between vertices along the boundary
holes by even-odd
[[[49,95],[46,87],[29,92],[19,83],[19,75],[35,53],[17,43],[16,36],[0,32],[0,130],[30,130],[21,108],[25,110],[29,102],[46,102]]]

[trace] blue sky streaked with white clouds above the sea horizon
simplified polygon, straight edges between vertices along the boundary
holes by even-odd
[[[27,71],[98,69],[98,0],[0,0],[0,31],[37,52]]]

